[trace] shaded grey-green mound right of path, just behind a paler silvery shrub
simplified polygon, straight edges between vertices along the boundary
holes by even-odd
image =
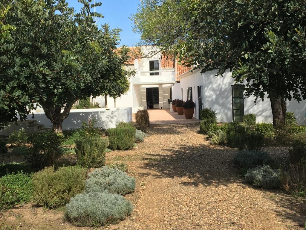
[[[272,157],[265,151],[239,151],[234,156],[234,163],[242,169],[255,168],[258,165],[273,165]]]

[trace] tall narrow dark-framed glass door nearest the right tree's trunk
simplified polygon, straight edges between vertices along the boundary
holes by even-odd
[[[243,85],[232,85],[233,121],[242,121],[244,115]]]

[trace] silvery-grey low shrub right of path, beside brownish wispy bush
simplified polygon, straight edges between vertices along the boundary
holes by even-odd
[[[248,184],[264,189],[278,189],[281,186],[280,182],[281,170],[273,170],[270,166],[258,166],[249,169],[244,178]]]

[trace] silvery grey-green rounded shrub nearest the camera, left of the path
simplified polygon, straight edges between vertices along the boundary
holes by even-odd
[[[65,219],[76,226],[101,226],[124,220],[132,209],[131,202],[118,194],[84,193],[71,198]]]

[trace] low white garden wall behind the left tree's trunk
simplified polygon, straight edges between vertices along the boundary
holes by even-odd
[[[53,127],[44,112],[33,112],[34,118],[31,119],[32,114],[29,114],[28,120],[37,120],[45,128]],[[120,121],[132,122],[132,108],[71,109],[69,116],[63,121],[63,130],[80,128],[82,121],[88,122],[88,117],[95,118],[97,121],[96,126],[99,128],[114,128]]]

